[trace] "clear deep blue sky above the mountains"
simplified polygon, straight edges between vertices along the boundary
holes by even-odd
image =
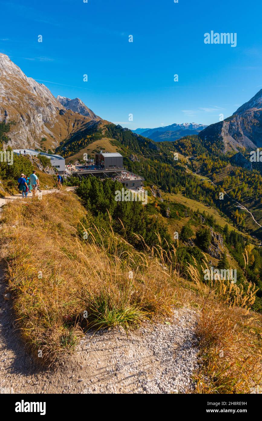
[[[259,0],[0,0],[0,8],[0,52],[53,95],[79,97],[124,127],[215,123],[262,88]],[[211,30],[236,32],[236,47],[204,44]]]

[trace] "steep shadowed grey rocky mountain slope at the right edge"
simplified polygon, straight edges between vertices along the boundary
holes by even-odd
[[[222,152],[262,147],[262,89],[231,117],[208,126],[199,136],[211,146],[218,144]]]

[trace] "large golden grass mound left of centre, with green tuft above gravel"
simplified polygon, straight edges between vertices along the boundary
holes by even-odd
[[[92,237],[81,240],[77,226],[85,213],[68,192],[3,209],[2,248],[17,322],[45,360],[71,352],[86,328],[127,329],[169,316],[175,302],[175,277],[157,258],[113,233],[106,247]]]

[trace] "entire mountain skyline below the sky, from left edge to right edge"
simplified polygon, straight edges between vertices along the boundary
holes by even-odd
[[[26,77],[8,56],[0,53],[1,122],[12,123],[5,143],[15,149],[71,150],[70,144],[76,143],[76,139],[80,148],[87,137],[102,139],[114,132],[118,138],[128,136],[130,148],[137,140],[144,143],[145,138],[160,142],[198,135],[205,147],[212,149],[215,145],[221,152],[237,151],[239,147],[254,150],[262,147],[262,89],[231,117],[210,126],[174,123],[130,131],[103,120],[79,98],[58,96],[56,99],[45,85]],[[156,147],[152,142],[151,146]]]

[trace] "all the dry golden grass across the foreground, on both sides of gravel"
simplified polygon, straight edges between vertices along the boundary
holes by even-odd
[[[98,245],[94,227],[79,224],[85,214],[76,196],[64,191],[3,209],[8,288],[17,325],[35,354],[41,349],[51,363],[72,352],[88,328],[128,329],[187,306],[199,309],[203,365],[196,392],[249,393],[259,384],[262,316],[248,312],[251,288],[246,294],[226,282],[204,285],[194,266],[191,278],[181,279],[177,243],[169,254],[141,238],[144,251],[138,252],[113,232],[105,245],[97,230]]]

